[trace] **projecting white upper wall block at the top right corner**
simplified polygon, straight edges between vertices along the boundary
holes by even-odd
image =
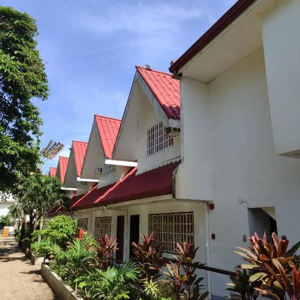
[[[300,127],[299,13],[300,1],[278,0],[262,14],[266,78],[277,154],[300,149],[296,134]]]

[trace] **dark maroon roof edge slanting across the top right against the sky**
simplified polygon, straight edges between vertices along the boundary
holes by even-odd
[[[173,64],[169,71],[176,73],[188,60],[204,48],[213,38],[220,34],[255,0],[238,0],[231,6],[204,34],[202,34]]]

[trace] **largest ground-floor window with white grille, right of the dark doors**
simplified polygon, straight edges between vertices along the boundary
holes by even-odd
[[[193,212],[149,214],[149,234],[163,242],[166,252],[175,253],[176,243],[193,243]]]

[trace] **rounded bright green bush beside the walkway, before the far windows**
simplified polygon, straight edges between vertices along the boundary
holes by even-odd
[[[62,248],[65,248],[66,242],[71,240],[72,236],[75,235],[76,228],[76,219],[61,214],[50,219],[46,224],[46,228],[39,230],[38,233],[42,239],[54,241]]]

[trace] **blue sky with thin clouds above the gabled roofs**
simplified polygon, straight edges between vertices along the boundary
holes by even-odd
[[[234,2],[2,0],[37,21],[50,86],[47,101],[34,101],[44,122],[41,146],[52,138],[68,156],[72,139],[88,141],[94,113],[121,118],[134,66],[167,71]]]

